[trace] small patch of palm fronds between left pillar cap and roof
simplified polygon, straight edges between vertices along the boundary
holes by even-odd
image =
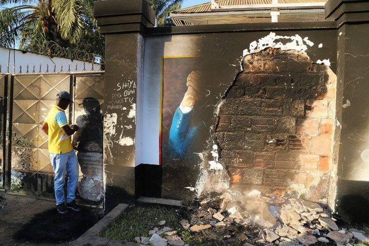
[[[148,0],[156,12],[158,26],[171,26],[169,13],[180,8],[183,0]]]

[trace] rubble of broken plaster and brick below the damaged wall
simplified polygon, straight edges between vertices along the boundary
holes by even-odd
[[[238,190],[196,202],[189,207],[190,219],[180,221],[183,229],[201,233],[228,245],[339,245],[369,243],[363,231],[340,228],[330,211],[318,203],[297,199],[293,193],[265,197],[258,191],[242,195]],[[151,238],[137,237],[142,244],[186,245],[171,228],[150,231]],[[252,244],[250,244],[252,243]],[[363,244],[364,245],[364,244]]]

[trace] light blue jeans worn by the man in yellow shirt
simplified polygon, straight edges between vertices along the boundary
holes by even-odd
[[[65,173],[67,171],[67,202],[75,200],[75,190],[78,183],[78,160],[74,150],[65,154],[50,153],[51,165],[53,166],[55,179],[55,199],[56,205],[65,202],[64,185]]]

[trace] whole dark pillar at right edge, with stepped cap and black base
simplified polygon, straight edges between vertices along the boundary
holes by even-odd
[[[325,15],[337,23],[337,212],[368,221],[369,2],[330,0]]]

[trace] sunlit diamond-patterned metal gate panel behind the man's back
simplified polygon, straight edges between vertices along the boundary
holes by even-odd
[[[58,91],[70,91],[69,74],[13,76],[11,191],[54,198],[48,140],[41,130]]]

